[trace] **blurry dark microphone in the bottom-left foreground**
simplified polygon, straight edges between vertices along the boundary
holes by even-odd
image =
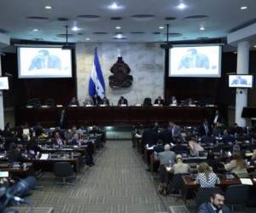
[[[9,187],[6,192],[7,197],[12,196],[22,196],[25,193],[29,192],[32,187],[36,185],[36,178],[33,176],[28,176],[25,179],[19,181],[14,186]]]

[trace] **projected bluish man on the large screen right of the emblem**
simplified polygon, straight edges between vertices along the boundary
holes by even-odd
[[[179,62],[178,69],[205,68],[209,69],[207,55],[197,53],[196,49],[188,49]]]

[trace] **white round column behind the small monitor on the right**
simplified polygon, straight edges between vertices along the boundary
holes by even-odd
[[[237,74],[248,74],[250,43],[241,41],[237,45]],[[247,89],[236,89],[236,124],[245,127],[246,119],[241,118],[242,108],[247,107]]]

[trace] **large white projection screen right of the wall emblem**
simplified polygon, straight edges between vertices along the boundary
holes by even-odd
[[[221,77],[221,46],[177,46],[170,49],[169,77]]]

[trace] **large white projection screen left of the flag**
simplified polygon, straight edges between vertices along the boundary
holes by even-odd
[[[18,47],[19,78],[72,78],[71,49]]]

